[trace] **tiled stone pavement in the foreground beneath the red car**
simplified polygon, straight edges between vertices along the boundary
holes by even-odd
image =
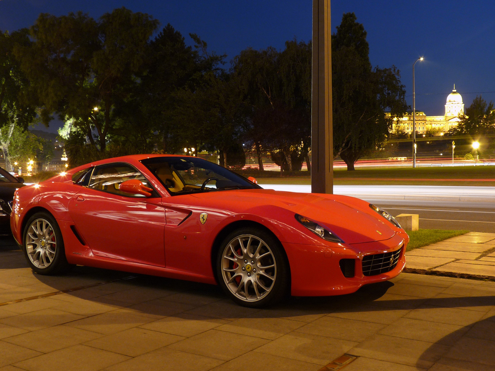
[[[257,310],[194,282],[34,275],[0,246],[0,371],[493,371],[494,349],[492,281],[403,273]]]

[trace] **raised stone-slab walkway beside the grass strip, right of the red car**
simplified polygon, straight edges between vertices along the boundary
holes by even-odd
[[[495,233],[469,232],[408,251],[405,272],[495,280]]]

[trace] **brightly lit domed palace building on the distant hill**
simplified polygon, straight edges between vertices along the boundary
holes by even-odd
[[[460,119],[459,116],[464,113],[464,103],[462,102],[461,94],[454,89],[448,94],[445,104],[444,116],[427,116],[422,111],[416,111],[416,132],[419,134],[431,133],[435,136],[443,135],[450,129],[457,126]],[[386,113],[390,116],[390,113]],[[392,132],[412,134],[412,111],[404,114],[400,119],[394,119]]]

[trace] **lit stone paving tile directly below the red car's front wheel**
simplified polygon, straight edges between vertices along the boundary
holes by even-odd
[[[318,321],[318,320],[317,320]],[[221,325],[217,330],[240,333],[243,335],[276,339],[286,333],[306,325],[305,322],[285,320],[283,318],[241,318],[228,324]]]

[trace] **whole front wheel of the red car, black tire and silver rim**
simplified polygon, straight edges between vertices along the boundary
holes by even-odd
[[[285,251],[277,238],[262,229],[247,227],[229,233],[217,252],[216,274],[225,293],[248,308],[275,304],[290,289]]]

